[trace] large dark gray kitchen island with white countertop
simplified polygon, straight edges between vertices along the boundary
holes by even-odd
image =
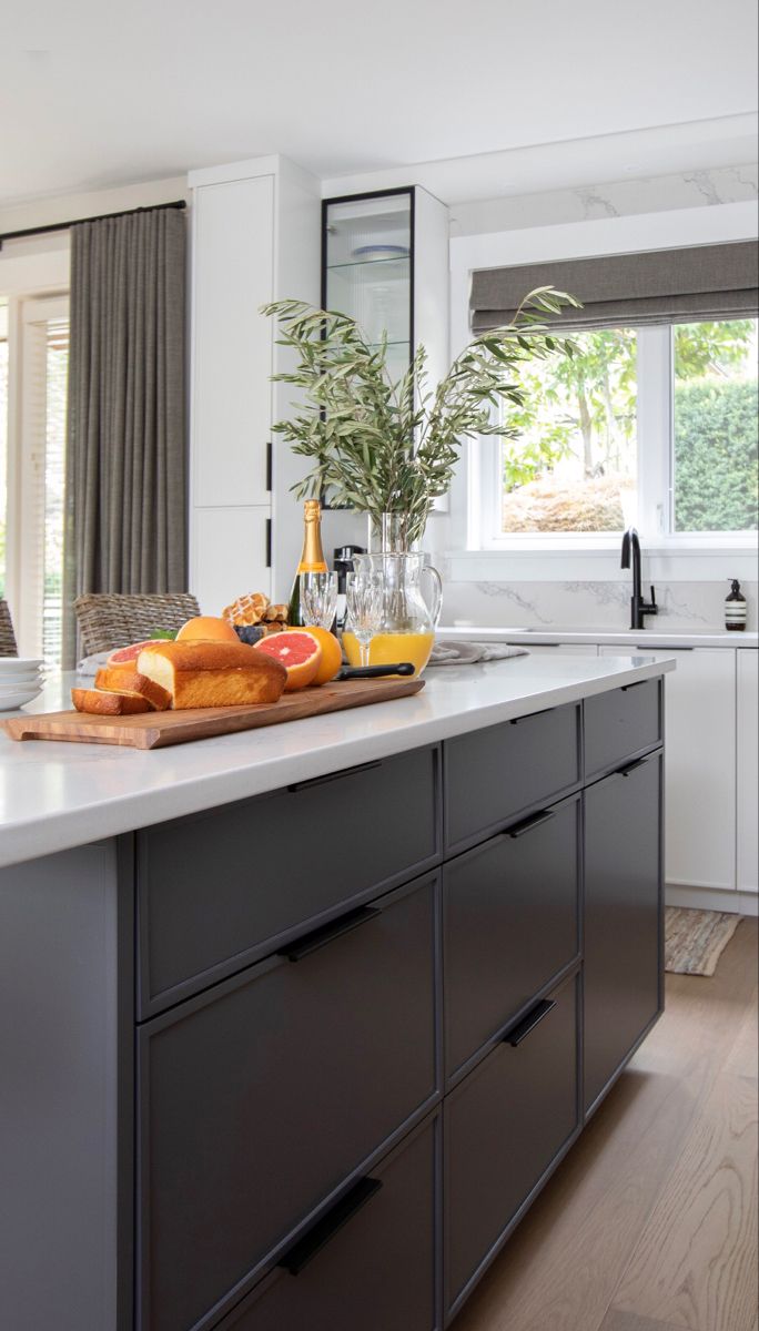
[[[662,1010],[670,668],[4,737],[1,1323],[447,1324]]]

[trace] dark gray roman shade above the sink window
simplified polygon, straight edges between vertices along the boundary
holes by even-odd
[[[529,291],[553,286],[582,301],[563,326],[614,327],[746,318],[759,306],[759,254],[752,241],[606,254],[602,258],[479,269],[471,281],[471,329],[510,323]]]

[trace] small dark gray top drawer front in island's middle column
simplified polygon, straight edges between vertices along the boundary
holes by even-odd
[[[579,707],[555,707],[446,740],[446,847],[471,843],[521,809],[577,785]]]

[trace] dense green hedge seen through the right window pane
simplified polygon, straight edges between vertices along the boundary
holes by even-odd
[[[755,531],[758,385],[675,386],[675,531]]]

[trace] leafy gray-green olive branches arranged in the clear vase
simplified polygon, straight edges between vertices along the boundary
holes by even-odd
[[[574,355],[574,343],[546,322],[567,305],[578,307],[579,301],[551,286],[530,291],[514,321],[474,338],[434,389],[423,346],[393,382],[386,334],[369,346],[346,314],[294,299],[262,305],[261,313],[278,321],[277,345],[297,355],[296,369],[272,377],[302,390],[301,409],[273,426],[312,462],[293,486],[297,498],[329,491],[336,504],[376,522],[385,512],[399,514],[407,540],[417,540],[434,500],[450,488],[462,442],[518,437],[509,407],[526,405],[521,365]]]

